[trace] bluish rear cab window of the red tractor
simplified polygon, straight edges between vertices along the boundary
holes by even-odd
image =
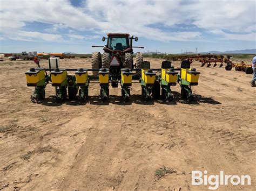
[[[107,46],[114,51],[123,51],[129,46],[129,39],[125,37],[109,37]]]

